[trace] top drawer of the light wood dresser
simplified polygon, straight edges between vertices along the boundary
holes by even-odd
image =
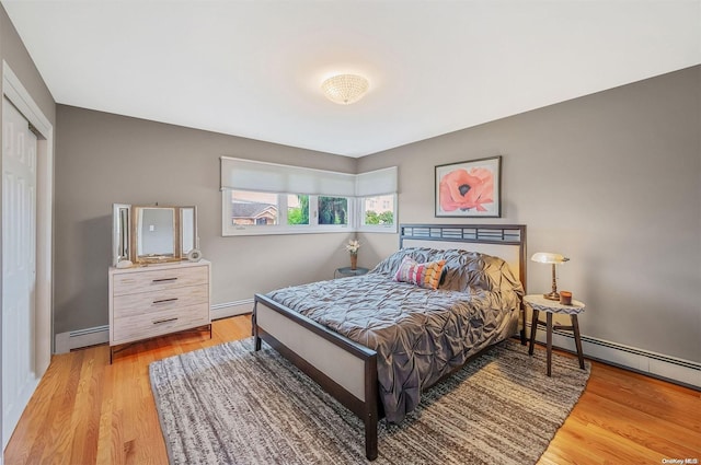
[[[113,295],[207,284],[209,282],[208,270],[207,266],[188,266],[115,274],[112,283]]]

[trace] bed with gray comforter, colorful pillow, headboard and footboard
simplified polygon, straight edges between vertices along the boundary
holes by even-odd
[[[255,350],[265,340],[357,415],[375,460],[379,418],[400,422],[519,319],[525,344],[525,225],[402,224],[367,275],[256,294]]]

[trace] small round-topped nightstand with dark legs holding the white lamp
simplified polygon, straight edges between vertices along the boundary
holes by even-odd
[[[584,354],[582,353],[582,339],[579,338],[579,322],[577,315],[584,312],[586,307],[583,302],[573,300],[572,305],[563,305],[556,300],[545,299],[542,294],[531,294],[524,298],[524,303],[531,307],[533,316],[530,324],[530,347],[528,348],[528,354],[533,354],[533,345],[536,344],[536,329],[538,326],[545,327],[547,345],[548,345],[548,376],[551,375],[551,361],[552,361],[552,330],[564,329],[574,333],[574,342],[577,347],[577,358],[579,359],[579,368],[584,370]],[[545,312],[545,322],[538,319],[538,314]],[[570,315],[572,319],[572,326],[562,326],[552,324],[552,314],[560,313]]]

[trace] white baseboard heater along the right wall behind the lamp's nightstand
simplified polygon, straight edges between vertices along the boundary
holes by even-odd
[[[528,323],[527,337],[530,335],[530,323]],[[545,344],[544,329],[538,328],[536,340]],[[553,330],[552,345],[571,352],[576,352],[577,350],[572,332]],[[650,374],[692,388],[701,388],[701,363],[698,362],[584,335],[582,335],[582,350],[586,358]]]

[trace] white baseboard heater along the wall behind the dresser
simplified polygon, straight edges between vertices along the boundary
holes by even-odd
[[[211,319],[227,318],[253,312],[253,299],[211,305]],[[56,335],[56,353],[68,353],[73,349],[110,342],[110,325],[59,333]]]

